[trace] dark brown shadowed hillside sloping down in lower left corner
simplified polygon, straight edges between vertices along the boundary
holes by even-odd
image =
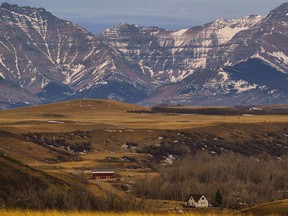
[[[0,155],[1,208],[99,209],[96,197],[81,185],[53,177]],[[84,199],[85,203],[79,199]],[[3,215],[3,214],[1,214]]]

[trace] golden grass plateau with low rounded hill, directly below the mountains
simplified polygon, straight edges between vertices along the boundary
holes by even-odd
[[[69,131],[81,129],[125,127],[133,129],[188,129],[219,123],[288,122],[288,116],[217,116],[168,113],[131,113],[149,110],[115,101],[82,100],[61,102],[38,107],[1,111],[0,124],[6,129]]]

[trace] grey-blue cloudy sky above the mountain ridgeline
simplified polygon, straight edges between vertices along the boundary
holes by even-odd
[[[99,33],[120,23],[190,28],[217,18],[266,15],[283,0],[6,0],[43,7],[54,15]]]

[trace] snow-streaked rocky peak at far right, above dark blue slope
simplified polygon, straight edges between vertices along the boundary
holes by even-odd
[[[286,73],[288,71],[288,3],[272,10],[268,16],[245,31],[236,34],[219,47],[208,62],[234,65],[249,58],[259,58]]]

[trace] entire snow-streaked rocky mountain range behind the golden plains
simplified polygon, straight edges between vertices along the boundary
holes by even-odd
[[[0,7],[0,108],[79,98],[145,105],[288,102],[288,3],[266,17],[100,35],[43,8]]]

